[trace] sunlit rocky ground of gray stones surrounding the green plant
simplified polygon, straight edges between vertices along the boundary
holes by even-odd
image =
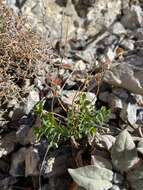
[[[25,55],[20,69],[13,66],[13,57],[8,69],[3,65],[7,61],[0,63],[0,189],[79,190],[67,169],[89,165],[78,171],[79,176],[82,173],[85,177],[80,183],[85,189],[142,190],[143,1],[7,0],[5,3],[14,10],[15,17],[26,16],[24,28],[31,26],[32,32],[38,32],[40,37],[32,41],[36,43],[34,47],[25,46],[22,51],[14,47],[15,57],[19,52],[20,56]],[[10,14],[9,18],[10,39],[15,44],[20,44],[21,39],[26,42],[29,38],[24,38],[24,33],[19,41],[12,36],[17,33],[14,16]],[[1,40],[1,44],[6,42]],[[5,52],[11,52],[11,46],[4,45],[0,48],[1,59],[6,55],[5,47],[10,47]],[[31,47],[34,54],[25,51]],[[28,63],[32,60],[34,66],[26,67],[27,60]],[[18,77],[22,81],[15,80]],[[12,92],[7,93],[10,87]],[[83,147],[73,150],[64,144],[49,151],[43,163],[48,143],[45,138],[35,142],[33,126],[40,125],[33,111],[35,104],[44,99],[45,110],[53,107],[54,112],[60,113],[57,97],[63,105],[70,106],[75,93],[80,91],[86,92],[90,100],[94,97],[97,108],[104,105],[111,109],[109,121],[97,130],[92,150],[84,152]],[[91,180],[91,187],[87,187],[86,179],[93,176],[90,164],[97,173],[94,173],[96,180]],[[72,170],[69,172],[74,176]],[[75,181],[78,183],[79,178]]]

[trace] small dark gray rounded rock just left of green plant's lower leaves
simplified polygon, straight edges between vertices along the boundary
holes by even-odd
[[[18,131],[16,132],[16,138],[21,145],[34,143],[35,138],[33,128],[29,125],[21,125]]]

